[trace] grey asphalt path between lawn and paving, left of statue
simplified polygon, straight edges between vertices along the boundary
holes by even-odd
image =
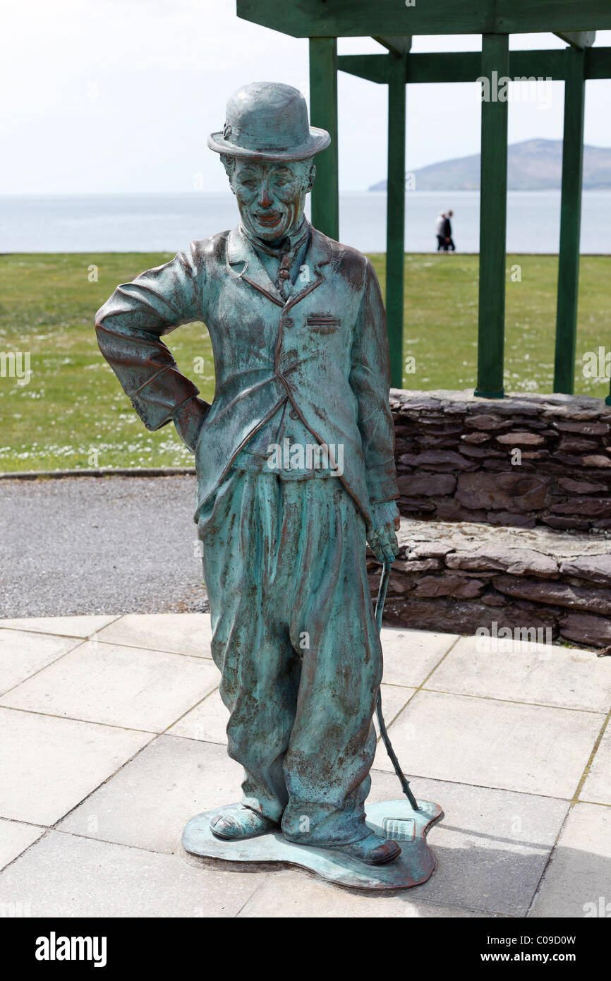
[[[206,609],[194,495],[194,477],[0,481],[0,616]]]

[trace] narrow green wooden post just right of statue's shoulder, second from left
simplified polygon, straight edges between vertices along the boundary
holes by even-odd
[[[390,383],[403,385],[405,270],[405,56],[389,54],[386,190],[386,326]]]

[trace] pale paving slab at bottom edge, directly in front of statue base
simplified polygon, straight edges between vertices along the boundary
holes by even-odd
[[[337,917],[480,918],[487,912],[474,912],[458,906],[442,906],[419,901],[421,887],[401,896],[359,896],[358,893],[328,885],[303,873],[277,872],[254,893],[237,914],[238,918]]]

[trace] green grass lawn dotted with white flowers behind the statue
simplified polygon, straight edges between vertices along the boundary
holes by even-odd
[[[100,355],[93,315],[118,283],[170,253],[0,256],[0,352],[30,354],[26,385],[0,377],[0,470],[180,466],[192,462],[174,427],[148,433]],[[372,256],[383,284],[385,257]],[[510,271],[521,266],[521,282]],[[97,282],[89,282],[89,267]],[[557,259],[508,256],[505,384],[551,391]],[[476,381],[478,257],[405,259],[405,351],[416,361],[407,388],[473,388]],[[604,397],[583,377],[582,357],[611,336],[611,257],[582,258],[577,392]],[[210,338],[203,324],[169,336],[178,366],[207,400],[214,392]],[[201,359],[203,358],[203,364]]]

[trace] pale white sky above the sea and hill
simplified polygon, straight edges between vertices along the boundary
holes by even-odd
[[[281,0],[279,0],[279,22]],[[233,0],[21,0],[0,37],[0,194],[225,190],[208,132],[231,91],[283,81],[308,97],[308,42],[240,21]],[[596,46],[611,45],[600,31]],[[564,47],[514,34],[512,48]],[[479,35],[419,36],[412,50],[479,50]],[[339,54],[381,53],[344,38]],[[408,86],[407,170],[480,150],[479,85]],[[562,138],[563,85],[509,107],[509,142]],[[339,73],[339,181],[385,176],[385,86]],[[611,147],[611,79],[586,85],[586,143]]]

